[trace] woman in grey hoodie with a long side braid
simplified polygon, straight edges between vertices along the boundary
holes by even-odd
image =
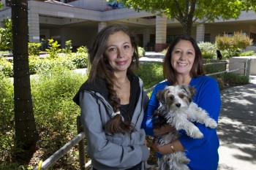
[[[103,28],[89,50],[89,79],[74,101],[80,106],[87,152],[94,169],[140,170],[149,157],[143,120],[142,81],[135,36],[124,26]]]

